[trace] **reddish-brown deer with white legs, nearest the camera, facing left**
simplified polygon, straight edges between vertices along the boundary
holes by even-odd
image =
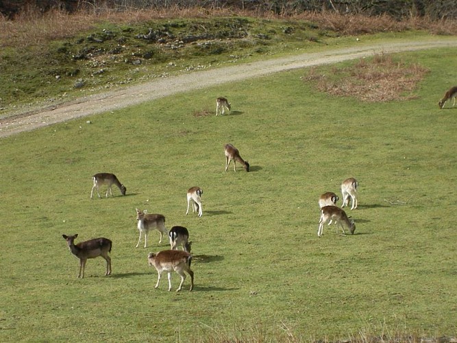
[[[190,263],[192,262],[192,255],[190,255],[186,251],[182,250],[162,250],[157,254],[153,252],[149,252],[147,257],[149,265],[153,265],[156,267],[158,278],[156,287],[159,287],[160,277],[162,276],[162,272],[166,270],[168,272],[168,283],[169,283],[169,292],[171,291],[171,272],[174,270],[177,274],[181,276],[181,283],[180,287],[177,287],[176,292],[180,292],[182,288],[182,284],[186,279],[186,274],[190,275],[190,289],[192,291],[194,287],[194,272],[190,270]]]

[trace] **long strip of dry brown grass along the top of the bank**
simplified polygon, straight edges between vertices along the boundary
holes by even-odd
[[[321,29],[339,32],[341,35],[373,34],[375,32],[401,32],[408,29],[425,29],[433,34],[457,34],[457,21],[443,19],[430,21],[410,17],[396,21],[389,16],[341,15],[334,12],[304,12],[291,16],[279,16],[271,12],[249,12],[230,8],[168,8],[166,10],[116,11],[109,8],[79,11],[68,14],[61,10],[41,13],[34,8],[24,10],[14,21],[0,15],[0,46],[27,47],[50,40],[75,36],[92,25],[103,21],[112,23],[141,23],[151,19],[209,18],[214,16],[251,16],[268,19],[301,19],[316,23]]]

